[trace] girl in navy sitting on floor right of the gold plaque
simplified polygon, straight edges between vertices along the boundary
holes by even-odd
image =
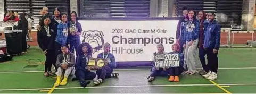
[[[118,73],[113,73],[113,69],[117,67],[117,63],[115,62],[114,55],[110,53],[110,44],[105,43],[103,49],[104,52],[98,54],[97,58],[107,59],[108,63],[102,69],[98,69],[96,71],[96,74],[98,75],[99,79],[94,82],[95,85],[101,84],[105,78],[117,78],[119,76]]]

